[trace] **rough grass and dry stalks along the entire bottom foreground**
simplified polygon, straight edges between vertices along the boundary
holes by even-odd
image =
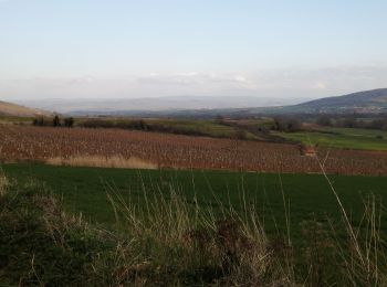
[[[255,208],[218,212],[176,188],[143,189],[144,204],[112,190],[116,222],[91,224],[62,209],[33,181],[0,178],[1,285],[385,286],[386,245],[378,201],[365,204],[365,228],[304,222],[302,254],[286,233],[266,236]],[[343,219],[343,217],[342,217]],[[351,231],[351,232],[349,232]],[[364,240],[363,240],[364,238]],[[297,259],[299,257],[300,259]]]

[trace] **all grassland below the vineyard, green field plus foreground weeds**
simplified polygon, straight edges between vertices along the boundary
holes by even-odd
[[[2,173],[1,284],[387,283],[386,177],[38,163]]]

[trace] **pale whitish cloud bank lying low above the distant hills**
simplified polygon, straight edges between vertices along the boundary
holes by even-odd
[[[342,95],[387,86],[387,65],[283,68],[253,72],[150,72],[103,77],[6,78],[0,95],[12,98],[109,98],[160,96],[262,96],[308,97]]]

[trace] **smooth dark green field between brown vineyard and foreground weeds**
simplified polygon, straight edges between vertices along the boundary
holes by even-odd
[[[80,213],[98,223],[115,222],[107,200],[108,193],[118,192],[125,199],[144,203],[144,191],[151,194],[159,189],[166,196],[170,188],[194,204],[211,208],[243,204],[255,205],[269,234],[276,227],[284,231],[285,212],[282,196],[289,204],[291,236],[301,241],[301,225],[312,219],[341,221],[338,204],[328,183],[320,174],[259,174],[226,171],[123,170],[51,167],[43,164],[4,164],[6,174],[19,180],[38,179],[63,196],[69,211]],[[387,199],[387,178],[332,176],[354,226],[358,225],[364,201],[369,194]],[[281,185],[283,188],[281,188]],[[157,191],[158,192],[158,191]],[[278,224],[278,226],[275,226]],[[387,231],[387,222],[383,228]]]

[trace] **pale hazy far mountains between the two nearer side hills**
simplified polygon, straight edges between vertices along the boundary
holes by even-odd
[[[174,96],[112,99],[22,100],[22,105],[72,115],[116,115],[168,113],[177,110],[228,109],[294,105],[306,98],[271,98],[249,96]]]

